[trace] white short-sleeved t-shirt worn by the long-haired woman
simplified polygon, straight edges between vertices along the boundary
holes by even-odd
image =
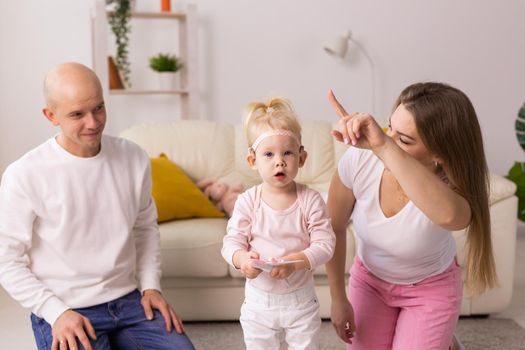
[[[372,151],[350,147],[339,161],[341,182],[356,198],[352,220],[357,253],[377,277],[412,284],[446,270],[456,255],[450,231],[434,224],[409,201],[386,217],[379,204],[383,162]]]

